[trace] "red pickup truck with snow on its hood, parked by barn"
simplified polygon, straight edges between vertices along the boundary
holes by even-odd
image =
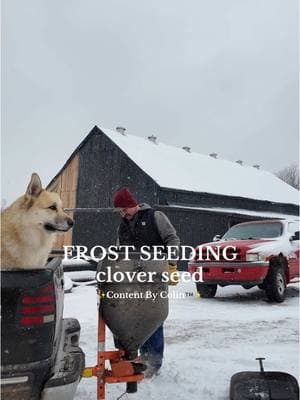
[[[286,285],[299,277],[299,219],[244,222],[213,240],[188,265],[201,297],[214,297],[218,285],[257,285],[270,301],[282,302]]]

